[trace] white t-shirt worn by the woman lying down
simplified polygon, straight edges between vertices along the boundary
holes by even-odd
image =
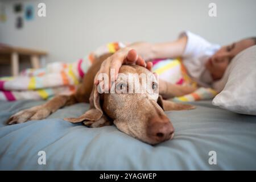
[[[201,36],[189,31],[182,32],[179,37],[182,36],[188,38],[182,57],[189,76],[201,86],[211,86],[213,83],[212,76],[205,68],[205,63],[210,56],[220,49],[220,45],[209,43]]]

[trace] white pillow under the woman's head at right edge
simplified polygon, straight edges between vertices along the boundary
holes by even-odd
[[[214,87],[224,89],[214,97],[213,105],[235,113],[256,115],[256,46],[234,57],[224,77]]]

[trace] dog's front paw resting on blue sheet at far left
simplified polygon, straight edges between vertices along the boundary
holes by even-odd
[[[43,108],[43,106],[35,106],[12,115],[6,123],[7,125],[14,125],[24,123],[29,120],[44,119],[48,117],[49,114],[51,114],[51,112],[46,108]]]

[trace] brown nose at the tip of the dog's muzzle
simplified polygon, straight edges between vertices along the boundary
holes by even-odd
[[[165,115],[151,118],[147,129],[148,137],[154,142],[160,143],[174,137],[174,127]]]

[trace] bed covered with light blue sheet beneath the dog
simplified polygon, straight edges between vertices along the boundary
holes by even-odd
[[[256,169],[256,116],[189,102],[195,110],[168,111],[175,137],[156,146],[143,143],[115,126],[90,129],[64,121],[88,104],[64,107],[41,121],[7,126],[21,109],[44,101],[0,101],[1,170],[247,170]],[[46,152],[46,165],[38,152]],[[209,164],[209,152],[217,164]]]

